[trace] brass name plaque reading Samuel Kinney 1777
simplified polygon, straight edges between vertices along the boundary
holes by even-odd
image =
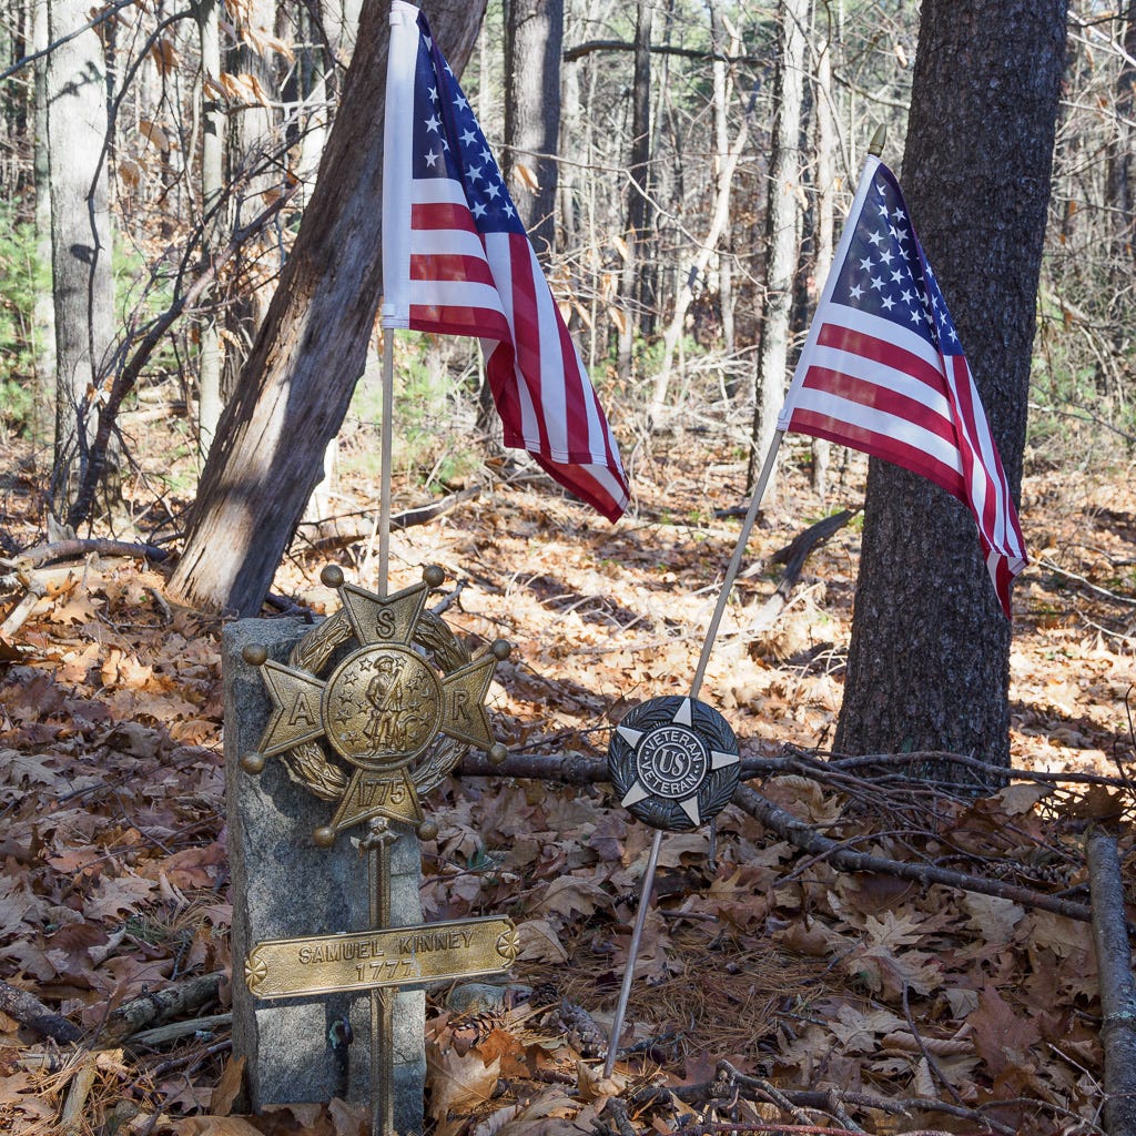
[[[412,986],[508,970],[520,943],[511,919],[485,917],[257,943],[244,962],[254,997]]]

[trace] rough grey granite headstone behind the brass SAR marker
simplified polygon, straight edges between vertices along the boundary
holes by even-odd
[[[278,758],[261,774],[240,766],[257,749],[272,702],[258,668],[242,657],[262,646],[286,662],[311,625],[300,619],[243,619],[225,628],[225,790],[233,897],[233,1052],[247,1059],[249,1103],[370,1102],[370,995],[261,1001],[244,984],[243,960],[264,939],[369,929],[368,862],[364,826],[317,847],[314,829],[327,825],[334,802],[293,782]],[[418,840],[403,832],[391,851],[391,925],[421,922]],[[425,995],[400,991],[394,1009],[394,1124],[423,1127],[426,1076]],[[344,1028],[344,1022],[350,1029]],[[342,1039],[352,1041],[344,1051]],[[333,1044],[335,1042],[336,1044]]]

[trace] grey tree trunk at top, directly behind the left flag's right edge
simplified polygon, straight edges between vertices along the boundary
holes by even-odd
[[[504,168],[542,259],[556,248],[563,0],[509,0],[506,15]],[[536,189],[518,175],[523,165]]]

